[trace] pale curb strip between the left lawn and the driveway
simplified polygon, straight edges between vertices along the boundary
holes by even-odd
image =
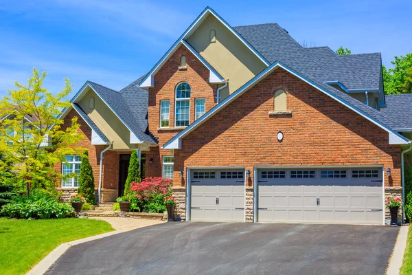
[[[112,236],[115,234],[122,233],[122,230],[115,230],[107,233],[103,233],[100,235],[89,236],[84,239],[79,239],[76,241],[69,241],[68,243],[62,243],[57,248],[55,248],[52,252],[50,252],[43,260],[41,260],[37,265],[35,265],[30,272],[27,272],[27,275],[43,275],[45,272],[51,267],[57,259],[62,256],[73,245],[78,245],[80,243],[87,243],[88,241],[94,241],[97,239],[102,239],[106,236]]]

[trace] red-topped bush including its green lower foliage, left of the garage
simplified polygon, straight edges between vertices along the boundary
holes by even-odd
[[[141,183],[133,182],[130,195],[133,195],[130,210],[150,213],[163,213],[165,197],[172,195],[172,179],[149,177]],[[133,207],[133,208],[132,208]]]

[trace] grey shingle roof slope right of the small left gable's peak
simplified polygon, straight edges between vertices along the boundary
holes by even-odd
[[[145,126],[144,122],[140,121],[139,118],[135,118],[135,113],[138,113],[135,109],[144,108],[147,112],[148,104],[145,104],[144,106],[129,104],[129,102],[122,96],[122,93],[91,81],[89,81],[89,84],[100,96],[102,96],[102,98],[111,106],[113,111],[117,113],[119,118],[124,121],[140,140],[144,142],[155,142],[146,131],[147,124]],[[133,86],[133,83],[131,85]],[[132,109],[133,111],[131,111]]]

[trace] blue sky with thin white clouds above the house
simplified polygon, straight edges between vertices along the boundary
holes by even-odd
[[[279,23],[309,46],[341,45],[352,54],[412,51],[409,1],[110,1],[0,0],[0,96],[26,83],[32,67],[45,87],[72,95],[86,80],[122,89],[148,72],[209,5],[229,24]]]

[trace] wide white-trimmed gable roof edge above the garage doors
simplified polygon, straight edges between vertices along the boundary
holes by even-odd
[[[225,108],[227,104],[230,104],[231,102],[233,102],[233,100],[236,100],[236,98],[238,98],[239,96],[244,94],[246,91],[251,89],[251,87],[253,87],[256,83],[260,82],[260,80],[264,79],[266,76],[268,76],[268,74],[270,74],[271,72],[273,72],[273,70],[279,67],[282,69],[285,69],[290,74],[297,76],[298,78],[308,83],[312,87],[319,89],[319,91],[322,91],[327,96],[330,96],[334,100],[345,105],[347,108],[358,113],[359,115],[362,115],[364,118],[366,118],[370,122],[376,124],[381,129],[384,129],[385,131],[387,131],[389,133],[389,143],[390,144],[408,144],[409,143],[409,140],[406,137],[403,137],[396,131],[393,131],[392,128],[394,126],[395,127],[398,126],[398,124],[396,122],[393,122],[390,118],[387,118],[384,115],[381,115],[379,111],[376,111],[375,109],[372,109],[371,107],[366,106],[365,104],[348,96],[347,94],[342,93],[339,90],[336,90],[332,87],[328,87],[324,83],[319,83],[316,80],[303,76],[299,74],[298,72],[294,71],[293,69],[291,69],[290,67],[287,67],[286,65],[280,62],[275,62],[271,66],[269,66],[267,69],[265,69],[262,73],[258,74],[258,76],[255,76],[255,78],[249,80],[248,83],[246,83],[240,89],[238,89],[233,94],[231,94],[231,96],[225,98],[225,100],[217,104],[214,108],[210,109],[201,118],[196,120],[194,123],[190,124],[190,126],[187,126],[185,130],[181,131],[181,133],[177,134],[170,141],[166,142],[162,146],[162,148],[181,149],[181,139],[183,137],[185,137],[186,135],[194,131],[198,126],[203,124],[203,122],[211,118],[211,116],[213,116],[214,114],[218,113],[221,109]]]

